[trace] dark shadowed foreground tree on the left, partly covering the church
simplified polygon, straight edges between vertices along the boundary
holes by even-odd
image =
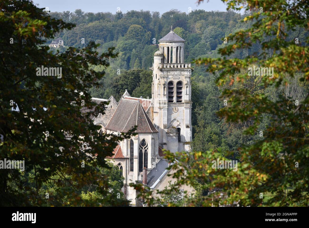
[[[100,178],[100,169],[109,168],[105,157],[128,134],[98,135],[92,118],[107,103],[92,102],[87,92],[104,75],[90,65],[106,67],[116,55],[113,49],[98,55],[94,42],[49,53],[45,40],[74,25],[43,10],[28,0],[0,5],[0,160],[24,161],[24,172],[32,172],[25,180],[19,169],[1,169],[0,205],[83,205],[80,189],[87,185],[103,196],[87,205],[126,205],[109,191],[112,183]],[[12,111],[17,106],[19,112]],[[40,195],[46,183],[53,185],[49,198]]]

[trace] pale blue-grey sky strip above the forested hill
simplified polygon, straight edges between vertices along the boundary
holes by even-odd
[[[49,7],[51,12],[71,11],[81,9],[84,12],[112,12],[115,13],[120,7],[123,13],[130,10],[159,11],[163,14],[171,9],[182,12],[195,9],[205,11],[226,11],[226,5],[221,0],[204,0],[197,5],[197,0],[33,0],[40,8]],[[189,8],[191,7],[191,8]]]

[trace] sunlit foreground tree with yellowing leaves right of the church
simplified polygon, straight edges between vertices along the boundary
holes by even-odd
[[[219,74],[216,84],[221,87],[222,103],[226,105],[217,112],[218,116],[226,124],[251,123],[243,134],[254,137],[254,140],[231,151],[219,147],[205,152],[193,151],[190,155],[184,152],[175,155],[167,151],[167,159],[178,160],[178,164],[168,169],[175,170],[173,177],[178,179],[178,186],[185,183],[193,186],[198,180],[204,191],[216,192],[202,197],[203,206],[232,202],[240,206],[308,206],[309,93],[307,90],[302,99],[294,100],[280,90],[280,85],[288,86],[288,79],[295,75],[300,75],[300,82],[305,82],[305,85],[309,81],[308,37],[302,40],[302,45],[296,42],[297,37],[286,38],[287,32],[293,31],[295,25],[308,30],[309,2],[224,2],[227,10],[247,10],[249,13],[242,24],[248,26],[226,37],[227,43],[218,49],[218,58],[200,58],[195,63],[206,65],[210,73]],[[211,28],[211,31],[215,29]],[[256,43],[260,44],[259,52],[255,49]],[[248,52],[243,58],[238,58],[239,52],[243,51]],[[249,73],[252,64],[268,68],[269,72],[265,70],[255,80]],[[243,86],[234,86],[235,82]],[[272,89],[277,90],[276,99],[269,95]],[[270,120],[267,125],[264,124],[265,116]],[[262,126],[265,130],[260,131]],[[239,138],[237,134],[236,140]],[[190,158],[194,161],[189,166]],[[234,167],[236,169],[217,169],[212,166],[217,159],[232,159],[239,163]],[[293,187],[293,191],[285,194],[288,186]],[[140,188],[140,192],[142,190]],[[263,197],[270,192],[273,198],[263,202]],[[224,197],[217,197],[219,194]]]

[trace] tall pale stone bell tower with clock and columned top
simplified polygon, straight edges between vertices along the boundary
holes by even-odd
[[[189,151],[192,141],[190,63],[184,63],[185,40],[171,29],[159,40],[152,81],[154,125],[159,146],[172,152]]]

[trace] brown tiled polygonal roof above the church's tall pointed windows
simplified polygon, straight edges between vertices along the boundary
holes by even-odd
[[[158,130],[150,121],[140,100],[126,97],[121,99],[105,129],[128,132],[137,125],[136,133],[157,133]]]

